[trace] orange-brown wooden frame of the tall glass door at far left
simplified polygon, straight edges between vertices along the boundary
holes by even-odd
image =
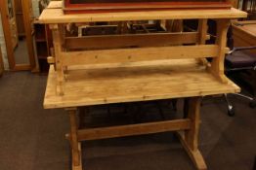
[[[32,30],[31,30],[31,20],[29,17],[29,3],[22,3],[22,10],[23,10],[23,20],[24,20],[24,29],[25,29],[25,36],[26,36],[26,47],[28,51],[29,57],[29,64],[17,64],[15,62],[15,53],[13,50],[13,43],[12,43],[12,35],[10,31],[10,24],[9,24],[9,14],[6,8],[6,3],[8,0],[0,0],[0,13],[2,16],[2,24],[5,36],[5,44],[7,50],[7,57],[9,62],[9,68],[12,71],[21,71],[21,70],[33,70],[35,69],[35,57],[33,51],[33,41],[32,41]],[[14,6],[14,15],[15,14],[15,3],[13,1]],[[29,19],[28,19],[29,18]]]

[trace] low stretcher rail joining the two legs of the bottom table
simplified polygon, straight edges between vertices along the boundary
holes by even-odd
[[[124,136],[159,133],[166,131],[188,130],[191,127],[190,119],[175,119],[141,124],[129,124],[113,127],[101,127],[78,130],[78,141],[107,139]],[[66,135],[69,139],[69,134]]]

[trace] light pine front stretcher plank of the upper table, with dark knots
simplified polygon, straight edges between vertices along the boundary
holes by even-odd
[[[136,48],[100,51],[62,52],[63,65],[127,63],[137,61],[215,57],[216,45]]]

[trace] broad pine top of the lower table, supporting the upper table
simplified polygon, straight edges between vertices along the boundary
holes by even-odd
[[[195,59],[147,61],[114,67],[87,66],[87,69],[80,70],[68,67],[64,95],[57,95],[56,72],[51,66],[44,108],[68,108],[239,91],[239,87],[231,81],[228,81],[228,84],[219,82]]]

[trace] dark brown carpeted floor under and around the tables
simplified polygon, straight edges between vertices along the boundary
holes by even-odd
[[[42,107],[46,77],[28,72],[7,73],[0,79],[0,170],[67,170],[70,152],[64,133],[69,121],[64,110]],[[206,97],[201,108],[199,148],[209,170],[252,170],[256,155],[256,109],[232,97],[236,115],[227,116],[222,98]],[[164,118],[181,116],[160,102]],[[123,106],[90,108],[85,124],[162,119],[155,103],[123,113]],[[192,170],[189,156],[173,133],[160,133],[83,143],[87,170]]]

